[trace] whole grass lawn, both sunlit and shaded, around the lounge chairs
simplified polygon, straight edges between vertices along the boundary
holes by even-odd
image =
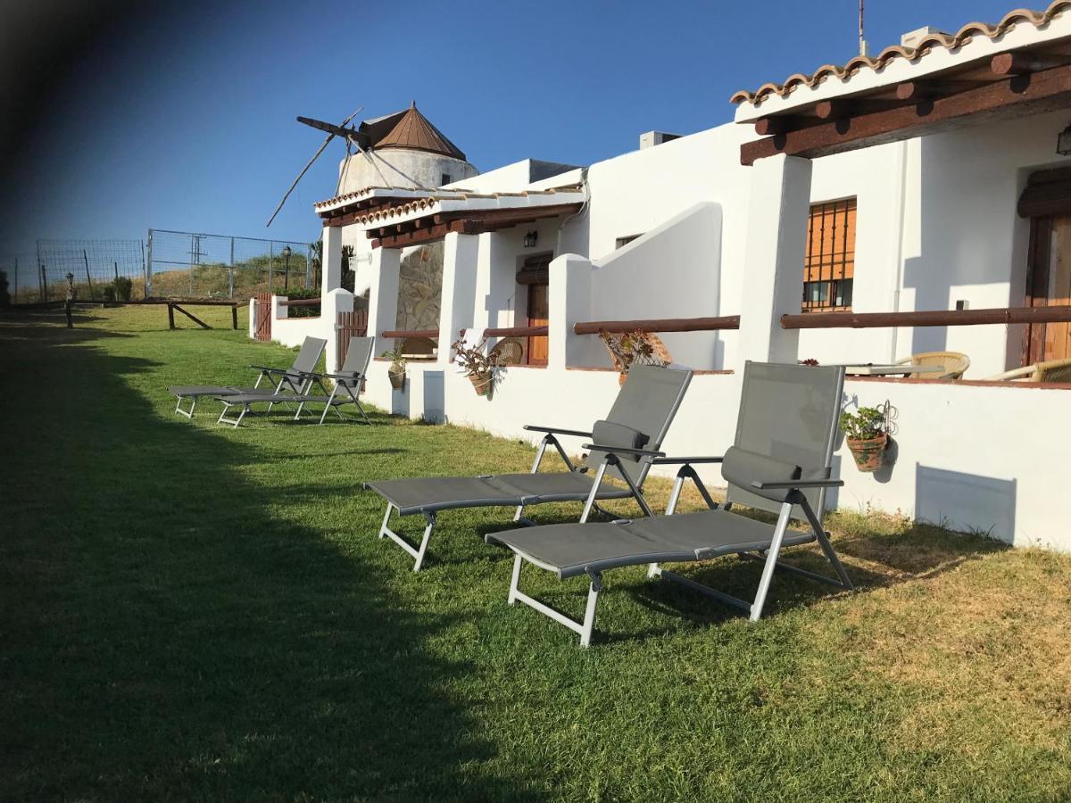
[[[1071,558],[840,513],[857,593],[779,578],[752,625],[620,570],[583,650],[506,605],[482,534],[508,512],[442,515],[413,574],[360,490],[525,470],[527,444],[382,413],[188,422],[167,384],[291,358],[165,327],[0,318],[0,798],[1071,797]],[[758,567],[680,571],[743,593]],[[584,584],[541,574],[578,615]]]

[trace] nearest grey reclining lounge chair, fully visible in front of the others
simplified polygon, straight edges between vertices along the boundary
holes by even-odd
[[[523,602],[591,641],[602,573],[618,566],[648,564],[648,577],[663,577],[722,602],[743,608],[752,621],[763,613],[774,569],[851,589],[829,534],[821,527],[826,489],[843,485],[831,479],[833,445],[844,385],[844,368],[748,363],[740,395],[735,445],[724,457],[666,458],[645,450],[655,464],[681,465],[665,516],[610,524],[550,525],[510,530],[486,536],[515,554],[508,602]],[[590,446],[599,449],[600,444]],[[607,452],[612,446],[603,446]],[[719,506],[699,481],[697,464],[721,463],[728,483],[726,503]],[[693,481],[709,511],[673,515],[685,480]],[[778,514],[768,525],[730,509],[743,503]],[[809,531],[789,529],[791,519],[803,520]],[[779,562],[786,546],[817,541],[836,578]],[[758,590],[746,602],[668,572],[662,562],[707,560],[741,555],[763,561]],[[577,622],[519,590],[521,569],[530,563],[559,578],[587,575],[584,621]]]

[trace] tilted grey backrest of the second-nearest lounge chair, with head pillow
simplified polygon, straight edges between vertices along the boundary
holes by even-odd
[[[633,365],[624,385],[617,394],[606,422],[617,425],[616,429],[634,430],[640,435],[642,449],[659,450],[673,423],[684,391],[692,381],[692,372],[682,368],[662,368],[654,365]],[[598,438],[595,439],[598,440]],[[632,443],[606,443],[614,446],[631,446]],[[585,465],[592,471],[602,463],[605,452],[592,450]],[[651,468],[650,457],[635,460],[622,458],[621,465],[636,486],[640,486]],[[621,479],[620,472],[610,467],[612,476]]]

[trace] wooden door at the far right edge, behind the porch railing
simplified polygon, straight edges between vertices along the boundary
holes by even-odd
[[[1031,221],[1026,303],[1071,304],[1071,215]],[[1025,364],[1071,359],[1071,323],[1030,324],[1024,351]]]

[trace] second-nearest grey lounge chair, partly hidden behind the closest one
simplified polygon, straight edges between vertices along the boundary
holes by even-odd
[[[365,488],[387,500],[387,513],[379,528],[379,537],[390,537],[411,555],[416,559],[412,569],[419,572],[435,529],[436,514],[440,511],[516,506],[513,520],[532,525],[532,521],[523,516],[528,505],[541,502],[584,502],[580,521],[586,521],[592,509],[598,507],[599,501],[631,497],[646,515],[653,515],[640,490],[651,468],[651,457],[648,452],[632,453],[630,448],[649,446],[657,450],[662,444],[691,381],[690,370],[636,365],[629,372],[629,378],[618,393],[606,421],[595,422],[591,431],[526,426],[525,429],[529,431],[545,434],[531,471],[527,474],[433,476],[365,483]],[[574,466],[558,442],[557,436],[560,435],[594,437],[620,449],[616,452],[592,450],[584,466]],[[569,471],[537,473],[547,446],[555,448]],[[591,471],[593,473],[589,473]],[[625,487],[604,482],[607,475],[624,482]],[[388,527],[394,511],[399,516],[424,516],[426,525],[419,546],[411,545]]]

